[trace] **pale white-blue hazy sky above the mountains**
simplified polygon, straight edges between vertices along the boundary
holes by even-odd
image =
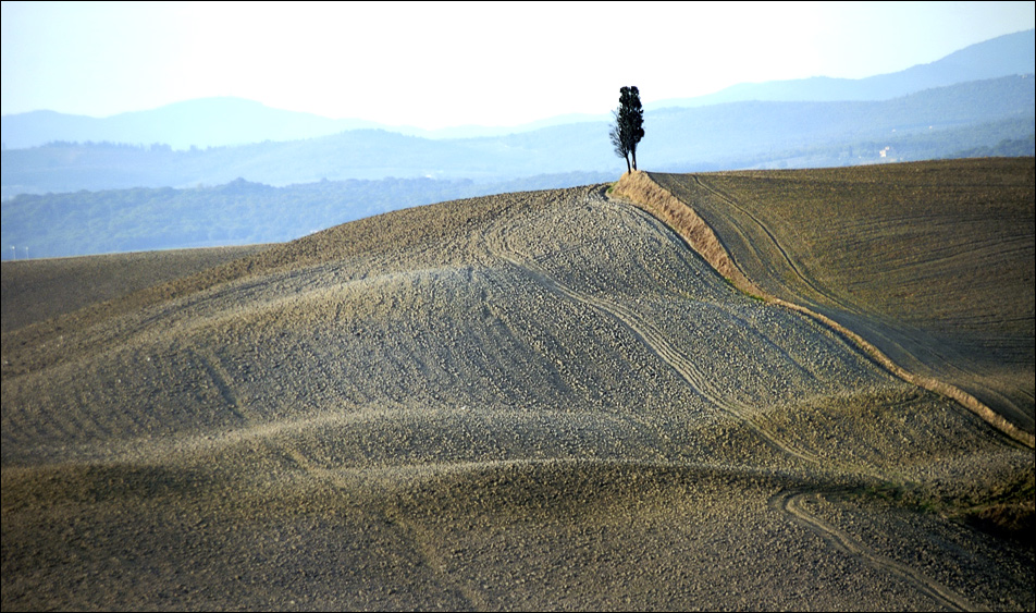
[[[1036,27],[1034,2],[3,2],[2,114],[210,96],[435,128],[859,78]]]

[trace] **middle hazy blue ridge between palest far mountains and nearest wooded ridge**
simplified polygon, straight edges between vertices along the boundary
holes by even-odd
[[[638,160],[650,170],[690,172],[957,157],[963,150],[1029,138],[1036,132],[1034,108],[1033,75],[973,81],[883,101],[673,107],[646,111]],[[617,176],[626,164],[612,150],[608,126],[569,123],[464,139],[351,130],[188,151],[52,144],[2,151],[2,189],[8,198],[78,189],[195,187],[238,177],[284,186],[390,176],[482,183],[570,172]]]

